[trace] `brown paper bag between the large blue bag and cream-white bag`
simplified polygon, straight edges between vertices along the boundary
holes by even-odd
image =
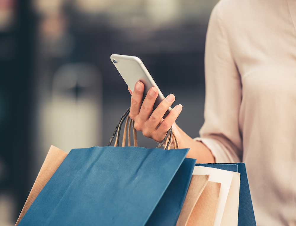
[[[208,181],[209,175],[192,175],[176,226],[212,226],[221,183]]]

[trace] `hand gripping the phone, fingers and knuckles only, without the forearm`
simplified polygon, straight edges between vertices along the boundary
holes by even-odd
[[[134,92],[131,92],[131,110],[130,117],[135,121],[135,129],[141,131],[144,136],[152,138],[156,142],[161,142],[167,131],[174,124],[177,117],[182,111],[182,105],[176,105],[163,119],[165,112],[175,101],[173,94],[168,95],[153,111],[153,105],[156,97],[158,96],[158,90],[152,87],[145,99],[143,100],[144,84],[137,82],[135,84]],[[175,127],[175,126],[174,126]],[[177,139],[180,138],[178,129],[174,129]]]

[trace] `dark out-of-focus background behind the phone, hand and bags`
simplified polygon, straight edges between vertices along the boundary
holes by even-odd
[[[216,3],[0,0],[0,226],[15,224],[51,144],[107,146],[130,105],[112,53],[141,58],[163,94],[176,96],[173,106],[183,105],[177,124],[199,136]]]

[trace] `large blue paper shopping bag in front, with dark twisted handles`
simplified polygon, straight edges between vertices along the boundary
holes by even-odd
[[[117,138],[121,124],[122,119]],[[171,137],[168,131],[160,145],[166,142],[168,148]],[[187,152],[111,146],[73,149],[19,225],[175,225],[195,164],[193,159],[184,161]]]

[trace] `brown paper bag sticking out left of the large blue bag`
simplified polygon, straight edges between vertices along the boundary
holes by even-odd
[[[38,173],[38,176],[36,178],[36,181],[30,191],[30,194],[28,196],[27,201],[25,202],[24,207],[22,208],[22,212],[20,213],[20,216],[17,219],[17,222],[15,226],[18,225],[20,220],[22,220],[22,217],[25,215],[33,201],[36,199],[42,188],[46,185],[46,183],[49,181],[49,179],[52,177],[54,172],[59,168],[59,165],[61,165],[62,161],[67,156],[66,152],[63,152],[61,149],[51,146],[46,158],[44,160],[44,163]]]

